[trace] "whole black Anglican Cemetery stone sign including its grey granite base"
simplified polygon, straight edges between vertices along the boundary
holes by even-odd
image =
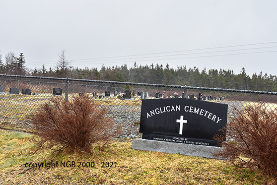
[[[213,137],[223,135],[227,109],[227,104],[186,98],[142,100],[143,137],[133,140],[132,148],[213,158],[220,150]]]

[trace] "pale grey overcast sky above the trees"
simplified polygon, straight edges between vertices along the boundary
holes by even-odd
[[[276,8],[273,0],[0,0],[0,53],[5,61],[23,52],[30,69],[55,68],[65,49],[82,69],[136,61],[277,75]]]

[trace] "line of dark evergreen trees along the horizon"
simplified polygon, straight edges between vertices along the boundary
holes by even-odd
[[[226,89],[243,89],[255,91],[277,91],[276,75],[268,75],[260,72],[251,77],[242,68],[240,74],[234,74],[233,70],[189,68],[178,66],[171,68],[168,64],[164,67],[159,64],[150,66],[134,65],[130,68],[126,64],[122,66],[105,67],[101,69],[85,67],[85,69],[73,68],[65,57],[65,50],[58,54],[57,64],[54,68],[46,69],[44,64],[40,69],[27,69],[23,53],[17,57],[13,52],[5,56],[5,63],[0,53],[0,73],[11,75],[30,75],[58,78],[76,78],[103,81],[137,82],[151,84],[183,85],[195,87],[213,87]]]

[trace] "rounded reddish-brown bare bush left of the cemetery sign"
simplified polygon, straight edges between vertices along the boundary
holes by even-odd
[[[30,119],[35,134],[40,136],[36,141],[39,148],[55,148],[56,154],[91,152],[93,144],[106,144],[117,134],[113,120],[105,117],[105,113],[88,96],[74,97],[70,101],[55,97],[41,105]]]

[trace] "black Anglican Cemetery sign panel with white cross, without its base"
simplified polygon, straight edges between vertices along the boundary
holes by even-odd
[[[226,127],[227,104],[178,99],[142,100],[143,139],[218,146],[214,135]]]

